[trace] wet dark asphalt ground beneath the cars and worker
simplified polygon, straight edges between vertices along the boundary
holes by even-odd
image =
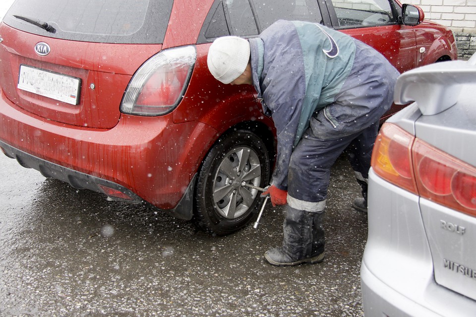
[[[274,267],[283,208],[226,237],[44,178],[0,153],[0,316],[363,316],[366,214],[332,170],[321,264]]]

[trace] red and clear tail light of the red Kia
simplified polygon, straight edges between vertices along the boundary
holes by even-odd
[[[163,115],[179,105],[196,60],[193,46],[164,50],[134,74],[120,110],[137,115]]]

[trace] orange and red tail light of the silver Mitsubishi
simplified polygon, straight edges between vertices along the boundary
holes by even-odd
[[[372,153],[372,168],[396,186],[476,216],[476,168],[393,124],[385,123],[380,130]]]

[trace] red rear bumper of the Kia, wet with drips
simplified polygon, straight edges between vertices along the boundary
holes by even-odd
[[[112,129],[71,126],[0,98],[0,142],[9,157],[73,187],[108,186],[162,210],[187,196],[216,135],[200,122],[176,124],[172,114],[122,115]]]

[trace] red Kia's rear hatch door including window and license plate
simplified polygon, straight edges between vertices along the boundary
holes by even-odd
[[[3,93],[49,120],[114,127],[131,76],[161,49],[172,2],[17,0],[0,26]]]

